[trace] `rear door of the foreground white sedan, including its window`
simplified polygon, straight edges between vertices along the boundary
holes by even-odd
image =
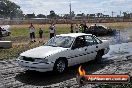
[[[87,52],[87,57],[85,57],[85,61],[87,62],[95,59],[98,51],[98,42],[96,41],[96,39],[91,35],[85,36],[85,46],[85,52]]]

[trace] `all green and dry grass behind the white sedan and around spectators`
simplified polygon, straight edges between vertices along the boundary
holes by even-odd
[[[88,26],[93,25],[87,24]],[[99,25],[99,24],[97,24]],[[124,29],[124,28],[132,28],[132,23],[101,23],[101,25],[105,25],[107,27],[111,27],[114,29]],[[29,25],[11,25],[11,36],[3,38],[3,40],[10,40],[13,42],[13,47],[10,49],[0,49],[0,59],[11,59],[13,57],[19,56],[19,54],[23,51],[26,51],[28,49],[37,47],[42,45],[42,43],[39,43],[38,41],[38,31],[41,27],[44,30],[44,42],[49,39],[49,26],[46,25],[38,25],[35,24],[36,29],[36,37],[37,42],[36,43],[29,43]],[[57,34],[64,34],[70,32],[70,25],[67,24],[57,24],[56,25],[56,33]]]

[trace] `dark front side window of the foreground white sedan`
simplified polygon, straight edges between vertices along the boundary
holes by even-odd
[[[82,48],[85,46],[85,39],[83,36],[79,36],[75,39],[75,42],[73,44],[73,48]]]

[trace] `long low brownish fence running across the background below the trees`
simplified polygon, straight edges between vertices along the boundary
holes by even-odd
[[[69,24],[69,23],[112,23],[112,22],[132,22],[131,19],[124,18],[88,18],[88,19],[29,19],[29,20],[0,20],[0,25],[16,25],[16,24]]]

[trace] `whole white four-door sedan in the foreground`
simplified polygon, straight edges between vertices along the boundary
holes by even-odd
[[[109,42],[92,34],[61,34],[43,46],[21,53],[18,64],[26,70],[62,73],[69,66],[99,60],[108,51]]]

